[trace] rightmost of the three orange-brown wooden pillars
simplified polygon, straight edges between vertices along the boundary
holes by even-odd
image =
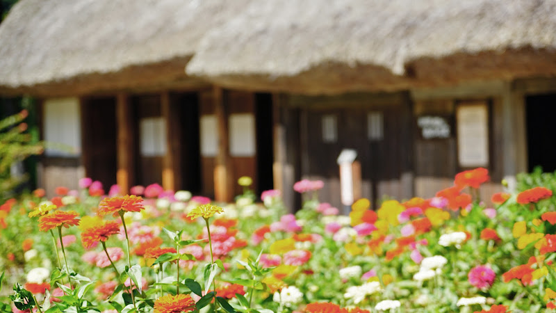
[[[214,194],[219,202],[231,202],[234,198],[234,184],[232,177],[231,157],[229,155],[228,116],[224,90],[219,87],[213,89],[214,113],[216,116],[218,133],[218,154],[214,168]]]

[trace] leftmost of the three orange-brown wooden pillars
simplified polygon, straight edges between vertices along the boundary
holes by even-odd
[[[129,193],[135,183],[135,136],[133,136],[133,114],[129,97],[118,94],[116,98],[117,120],[117,173],[116,182],[122,193]]]

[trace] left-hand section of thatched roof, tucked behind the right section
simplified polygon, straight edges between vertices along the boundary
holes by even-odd
[[[21,0],[0,25],[0,92],[187,86],[208,29],[246,0]]]

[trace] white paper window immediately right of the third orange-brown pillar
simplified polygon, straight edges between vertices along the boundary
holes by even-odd
[[[253,157],[255,155],[255,118],[252,114],[229,116],[230,155]]]

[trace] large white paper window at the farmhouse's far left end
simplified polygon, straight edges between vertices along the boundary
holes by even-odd
[[[81,117],[76,97],[51,98],[44,101],[44,140],[49,157],[76,157],[81,154]]]

